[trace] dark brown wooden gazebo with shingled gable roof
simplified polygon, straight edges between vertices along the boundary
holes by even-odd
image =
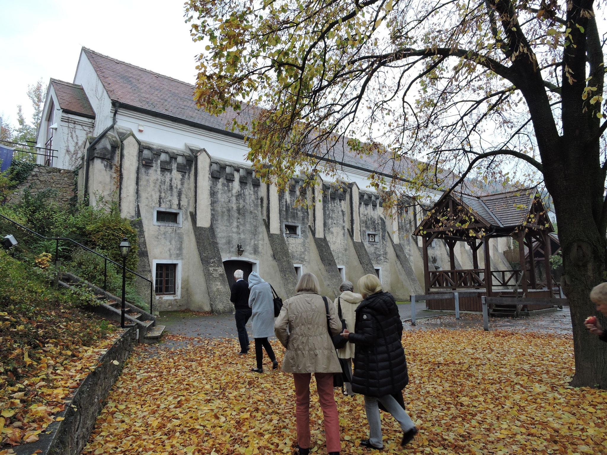
[[[471,291],[489,297],[553,297],[551,277],[552,223],[536,188],[483,196],[452,192],[439,198],[414,234],[422,237],[424,288],[432,292]],[[489,240],[512,237],[518,241],[521,268],[492,270]],[[430,270],[428,247],[435,239],[444,240],[449,249],[449,270]],[[466,242],[472,250],[472,269],[456,270],[455,245]],[[535,268],[527,266],[526,251],[543,252],[546,289],[538,283]],[[483,247],[484,268],[478,266],[478,250]],[[432,309],[450,309],[453,300],[429,300]],[[480,297],[460,299],[461,309],[480,311]]]

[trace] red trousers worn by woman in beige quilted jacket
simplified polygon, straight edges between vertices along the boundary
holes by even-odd
[[[314,373],[322,415],[325,420],[327,452],[339,452],[339,416],[333,396],[333,373]],[[293,373],[295,380],[295,417],[297,443],[302,449],[310,448],[310,377],[311,373]]]

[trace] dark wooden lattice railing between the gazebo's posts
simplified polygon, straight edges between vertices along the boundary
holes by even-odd
[[[430,288],[478,289],[485,287],[484,269],[430,271]],[[493,286],[515,287],[521,278],[520,270],[492,270]]]

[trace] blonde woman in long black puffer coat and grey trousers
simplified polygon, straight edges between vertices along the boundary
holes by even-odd
[[[383,292],[375,275],[358,280],[358,291],[365,299],[356,309],[354,333],[342,333],[348,342],[356,345],[352,390],[364,394],[365,411],[369,422],[369,439],[361,441],[363,447],[381,449],[379,403],[401,425],[401,445],[413,440],[418,433],[409,414],[393,397],[401,394],[409,383],[405,351],[402,349],[402,322],[392,294]]]

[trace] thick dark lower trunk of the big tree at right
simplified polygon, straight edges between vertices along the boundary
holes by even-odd
[[[573,325],[575,375],[570,385],[607,389],[607,343],[584,325],[586,317],[595,315],[607,327],[607,318],[589,298],[592,288],[605,281],[606,246],[605,232],[600,232],[592,213],[595,190],[589,180],[580,176],[566,191],[556,190],[552,197],[565,268],[561,285]]]

